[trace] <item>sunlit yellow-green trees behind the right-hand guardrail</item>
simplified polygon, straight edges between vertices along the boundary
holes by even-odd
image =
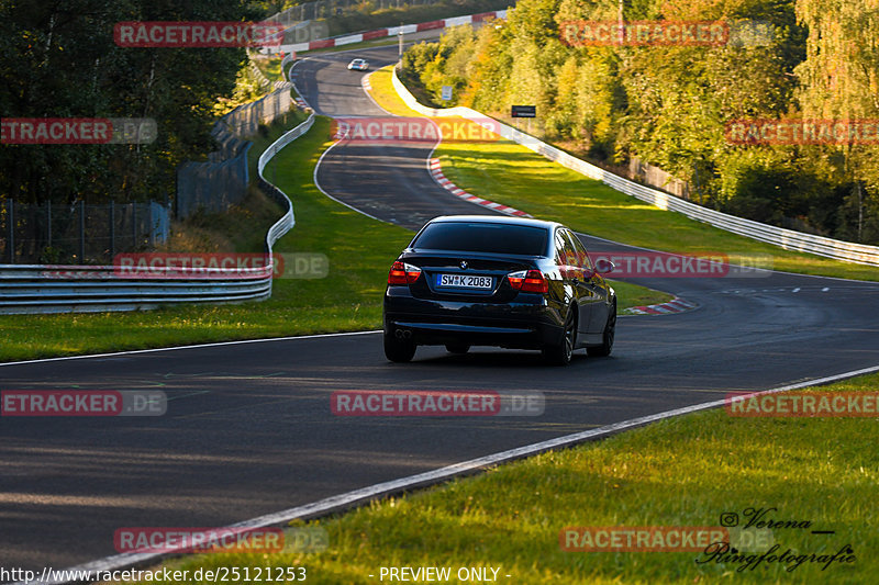
[[[553,142],[600,164],[637,157],[656,165],[713,209],[879,244],[875,134],[853,138],[853,130],[823,143],[730,138],[736,121],[872,121],[867,127],[875,127],[879,12],[871,5],[624,0],[621,13],[617,0],[520,0],[505,22],[457,27],[438,43],[414,46],[403,70],[435,104],[497,116],[534,104]],[[624,29],[628,42],[596,42],[594,23],[621,15],[626,23],[721,22],[728,36],[638,44],[631,42],[633,25]],[[441,101],[443,86],[454,88],[452,102]]]

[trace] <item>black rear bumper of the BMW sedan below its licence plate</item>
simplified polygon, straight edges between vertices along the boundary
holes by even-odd
[[[558,307],[548,306],[541,295],[520,296],[522,302],[490,304],[386,295],[385,334],[404,336],[422,346],[541,349],[559,344],[563,322]]]

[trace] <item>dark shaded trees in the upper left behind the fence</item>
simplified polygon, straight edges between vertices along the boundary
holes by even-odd
[[[114,42],[131,21],[258,21],[246,0],[0,0],[0,116],[153,119],[152,144],[0,145],[0,199],[22,203],[163,200],[177,167],[214,149],[215,105],[244,48]]]

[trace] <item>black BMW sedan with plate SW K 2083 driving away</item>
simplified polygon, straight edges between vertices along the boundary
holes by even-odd
[[[385,355],[410,361],[420,345],[609,356],[616,295],[567,227],[553,222],[448,215],[424,225],[393,262],[385,292]]]

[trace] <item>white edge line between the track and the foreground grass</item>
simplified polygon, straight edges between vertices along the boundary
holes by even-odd
[[[864,375],[876,372],[879,372],[879,365],[872,365],[870,368],[863,368],[860,370],[853,370],[839,374],[817,378],[805,382],[797,382],[794,384],[788,384],[785,386],[779,386],[763,392],[755,391],[755,394],[757,392],[759,392],[760,395],[776,394],[789,390],[798,390],[802,387],[830,384],[832,382],[837,382],[839,380],[854,378],[856,375]],[[379,497],[387,497],[390,495],[400,494],[402,492],[409,492],[416,487],[426,487],[429,485],[435,485],[437,483],[442,483],[453,477],[458,477],[461,475],[470,475],[476,472],[482,471],[487,468],[498,465],[500,463],[507,463],[510,461],[515,461],[518,459],[524,459],[526,457],[532,457],[553,449],[566,448],[587,441],[602,439],[611,435],[622,432],[624,430],[635,429],[648,425],[650,423],[665,420],[667,418],[674,418],[677,416],[698,413],[701,410],[709,410],[712,408],[720,408],[725,404],[726,404],[726,398],[723,398],[720,401],[712,401],[702,404],[694,404],[692,406],[685,406],[683,408],[676,408],[674,410],[666,410],[664,413],[657,413],[655,415],[642,416],[638,418],[633,418],[631,420],[623,420],[622,423],[614,423],[613,425],[605,425],[603,427],[598,427],[581,432],[575,432],[572,435],[566,435],[564,437],[558,437],[556,439],[549,439],[547,441],[526,445],[525,447],[520,447],[518,449],[510,449],[508,451],[501,451],[499,453],[493,453],[478,459],[470,459],[469,461],[463,461],[460,463],[455,463],[452,465],[447,465],[445,468],[439,468],[437,470],[419,473],[416,475],[410,475],[408,477],[402,477],[390,482],[378,483],[375,485],[370,485],[368,487],[355,490],[353,492],[347,492],[344,494],[338,494],[324,499],[320,499],[311,504],[305,504],[303,506],[297,506],[294,508],[288,508],[286,510],[281,510],[275,514],[267,514],[265,516],[259,516],[257,518],[234,524],[225,528],[257,529],[257,528],[267,528],[272,526],[285,526],[291,520],[296,519],[319,518],[322,516],[327,516],[330,514],[336,514],[338,511],[353,508],[358,505],[366,504]],[[78,566],[74,566],[68,569],[67,571],[116,571],[133,566],[144,566],[151,563],[156,563],[164,558],[173,555],[174,555],[173,552],[122,553],[122,554],[115,554],[113,556],[107,556],[104,559],[99,559],[97,561],[91,561],[89,563],[85,563]],[[44,583],[55,583],[60,585],[71,582],[46,581]],[[24,585],[24,584],[16,583],[15,585]]]

